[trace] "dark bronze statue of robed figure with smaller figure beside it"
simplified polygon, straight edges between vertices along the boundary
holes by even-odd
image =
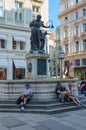
[[[37,15],[37,19],[33,20],[30,23],[31,27],[31,50],[38,51],[44,48],[45,44],[45,35],[42,33],[40,27],[49,28],[50,26],[45,26],[41,20],[41,15]],[[41,43],[42,41],[42,43]]]

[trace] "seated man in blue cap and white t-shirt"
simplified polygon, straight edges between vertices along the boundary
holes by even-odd
[[[33,96],[33,90],[30,87],[29,82],[25,83],[25,88],[22,91],[21,94],[21,100],[23,102],[20,103],[21,109],[24,110],[26,103],[30,100],[30,98]]]

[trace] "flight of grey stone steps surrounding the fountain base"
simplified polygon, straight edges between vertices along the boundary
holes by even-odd
[[[79,100],[84,104],[83,107],[78,107],[73,102],[60,103],[57,99],[31,100],[24,112],[53,114],[86,108],[86,97],[81,96]],[[21,112],[21,108],[15,100],[0,100],[0,112]]]

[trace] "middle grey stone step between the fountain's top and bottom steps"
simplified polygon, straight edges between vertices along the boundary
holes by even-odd
[[[81,102],[83,104],[86,104],[86,99],[81,100]],[[52,108],[57,108],[57,107],[67,107],[67,106],[73,106],[74,103],[73,102],[65,102],[65,103],[60,103],[60,102],[54,102],[54,103],[47,103],[47,104],[37,104],[37,103],[28,103],[26,105],[26,108],[29,109],[52,109]],[[11,102],[11,103],[0,103],[0,108],[20,108],[20,105],[15,104],[15,102]]]

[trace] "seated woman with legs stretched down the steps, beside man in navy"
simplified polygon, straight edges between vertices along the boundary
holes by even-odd
[[[73,103],[75,103],[76,105],[83,106],[83,104],[79,101],[79,99],[73,95],[73,84],[70,82],[68,86],[70,91],[69,99],[73,101]]]

